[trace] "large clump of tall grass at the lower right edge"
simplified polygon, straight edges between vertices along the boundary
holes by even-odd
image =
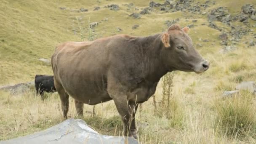
[[[232,98],[216,100],[214,108],[216,128],[221,133],[243,138],[256,131],[256,107],[251,93],[241,92]]]

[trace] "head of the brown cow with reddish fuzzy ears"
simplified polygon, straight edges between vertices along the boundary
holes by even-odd
[[[165,47],[162,49],[162,58],[169,71],[201,73],[209,68],[209,62],[193,46],[188,31],[189,27],[181,29],[178,24],[174,24],[162,35]]]

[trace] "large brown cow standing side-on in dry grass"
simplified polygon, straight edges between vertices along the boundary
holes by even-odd
[[[59,45],[51,62],[64,117],[69,95],[80,116],[84,103],[113,99],[122,116],[124,135],[137,139],[134,116],[138,103],[155,93],[163,75],[174,70],[201,73],[209,68],[209,62],[195,50],[188,30],[175,24],[167,32],[147,37],[115,35]]]

